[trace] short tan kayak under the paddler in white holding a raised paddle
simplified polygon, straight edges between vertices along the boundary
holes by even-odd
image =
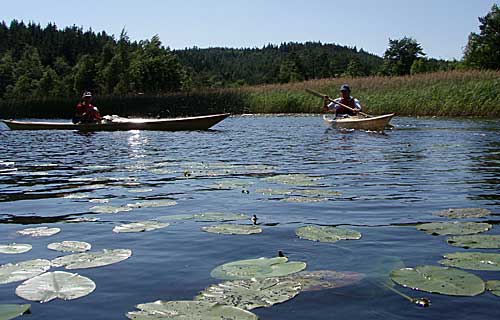
[[[394,113],[385,114],[377,117],[348,117],[332,119],[327,115],[323,116],[325,124],[332,128],[342,128],[342,129],[360,129],[369,131],[384,131],[384,129],[389,125]]]

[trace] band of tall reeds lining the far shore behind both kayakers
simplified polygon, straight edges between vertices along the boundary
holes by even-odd
[[[364,112],[399,116],[500,117],[500,71],[448,71],[402,77],[310,80],[236,89],[211,89],[162,95],[97,96],[102,114],[177,117],[230,112],[321,113],[322,101],[310,88],[331,97],[349,83]],[[71,118],[74,99],[4,100],[0,118]]]

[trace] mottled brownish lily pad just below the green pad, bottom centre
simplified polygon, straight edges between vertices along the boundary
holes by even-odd
[[[233,280],[209,286],[195,300],[252,310],[288,301],[299,294],[300,290],[301,284],[293,279]]]

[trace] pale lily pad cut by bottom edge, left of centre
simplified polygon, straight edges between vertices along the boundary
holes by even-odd
[[[258,317],[240,308],[205,301],[155,301],[136,306],[140,311],[126,314],[132,320],[257,320]]]

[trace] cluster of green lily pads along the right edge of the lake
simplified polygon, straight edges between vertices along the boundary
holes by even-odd
[[[451,219],[481,218],[490,212],[481,208],[458,208],[435,212]],[[446,241],[465,249],[499,249],[500,235],[481,235],[492,228],[485,222],[433,222],[417,225],[417,229],[432,235],[450,236]],[[424,265],[401,268],[391,272],[394,282],[415,290],[453,296],[475,296],[485,290],[500,296],[499,280],[483,281],[480,277],[460,270],[500,271],[500,254],[488,252],[454,252],[443,254],[439,261],[445,267]],[[460,268],[460,269],[457,269]]]

